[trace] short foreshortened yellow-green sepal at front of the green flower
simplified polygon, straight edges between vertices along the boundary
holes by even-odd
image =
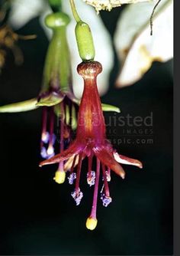
[[[40,100],[36,103],[37,107],[52,107],[58,103],[61,103],[64,99],[64,96],[59,96],[59,94],[49,94],[46,97],[40,98]]]

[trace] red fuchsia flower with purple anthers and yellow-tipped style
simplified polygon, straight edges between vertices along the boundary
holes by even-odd
[[[104,183],[103,191],[101,192],[101,200],[106,207],[112,201],[108,188],[108,182],[111,179],[111,170],[124,179],[125,172],[119,163],[130,164],[139,168],[143,166],[142,163],[136,159],[119,155],[106,139],[104,117],[96,84],[96,78],[102,71],[101,64],[97,61],[82,62],[79,64],[77,70],[84,79],[84,92],[79,107],[76,139],[68,149],[50,159],[40,162],[40,166],[66,161],[69,165],[69,183],[72,184],[74,180],[76,180],[72,197],[75,199],[76,205],[79,205],[83,196],[79,187],[82,159],[84,159],[85,156],[88,157],[87,182],[88,185],[95,185],[95,189],[92,212],[87,219],[86,227],[93,230],[98,222],[96,218],[96,208],[100,170]],[[92,160],[94,158],[96,159],[95,172],[92,171]]]

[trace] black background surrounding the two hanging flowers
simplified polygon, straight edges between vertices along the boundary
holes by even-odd
[[[121,9],[101,17],[114,34]],[[1,105],[37,96],[48,41],[34,18],[20,34],[37,34],[34,41],[20,41],[24,64],[14,65],[11,53],[0,76]],[[1,218],[0,254],[172,254],[172,75],[171,62],[154,63],[142,80],[131,87],[117,89],[114,81],[119,71],[115,56],[110,89],[104,103],[121,107],[126,117],[147,117],[153,113],[153,144],[121,143],[114,147],[125,156],[140,159],[143,170],[124,166],[125,180],[112,174],[110,189],[113,202],[104,208],[98,202],[98,227],[85,228],[92,206],[92,189],[85,180],[84,197],[76,207],[70,193],[72,186],[53,182],[56,166],[38,167],[40,162],[41,110],[0,115],[1,129]],[[114,113],[106,113],[109,120]],[[128,136],[115,127],[117,139]],[[146,126],[131,127],[145,130]],[[117,141],[117,140],[115,140]]]

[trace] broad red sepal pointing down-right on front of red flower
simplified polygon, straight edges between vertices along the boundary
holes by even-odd
[[[122,179],[125,178],[124,169],[115,161],[113,154],[109,153],[108,149],[94,148],[93,150],[95,156],[97,156],[105,166],[108,166],[112,171],[116,172]]]

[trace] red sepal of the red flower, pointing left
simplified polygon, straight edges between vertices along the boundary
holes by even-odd
[[[72,156],[79,154],[83,149],[84,149],[83,146],[74,142],[71,146],[69,146],[69,149],[64,150],[62,153],[57,154],[56,156],[53,156],[50,159],[40,162],[39,166],[41,167],[41,166],[50,165],[56,162],[64,161],[66,159],[71,158]]]

